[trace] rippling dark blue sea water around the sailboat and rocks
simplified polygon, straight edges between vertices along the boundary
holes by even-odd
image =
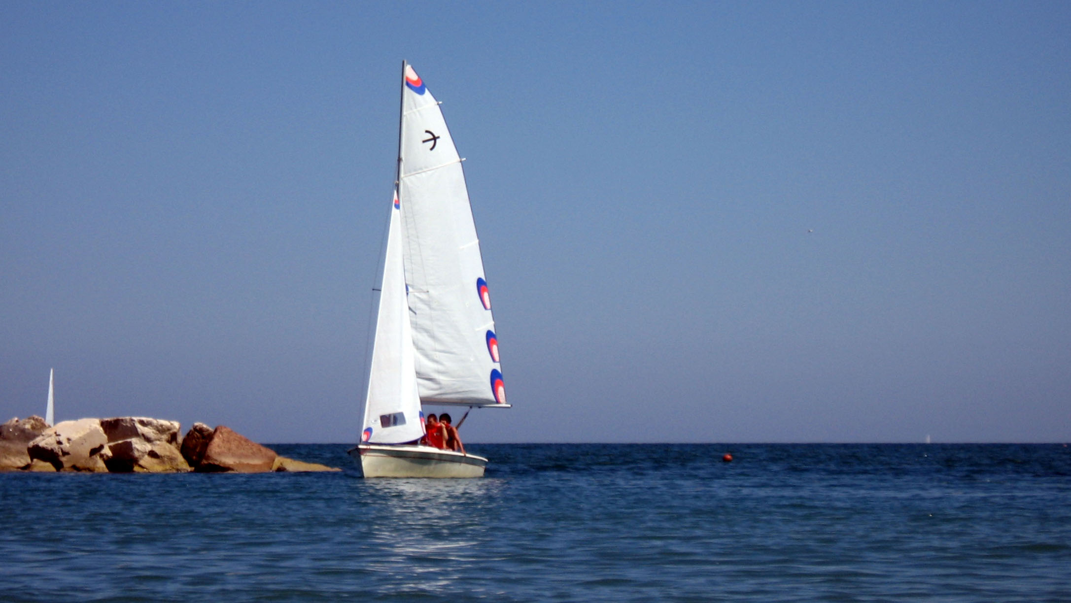
[[[0,473],[0,599],[1071,601],[1064,444],[273,448],[346,470]]]

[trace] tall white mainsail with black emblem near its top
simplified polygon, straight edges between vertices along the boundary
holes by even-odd
[[[402,90],[403,254],[425,403],[506,405],[498,338],[462,160],[411,66]]]

